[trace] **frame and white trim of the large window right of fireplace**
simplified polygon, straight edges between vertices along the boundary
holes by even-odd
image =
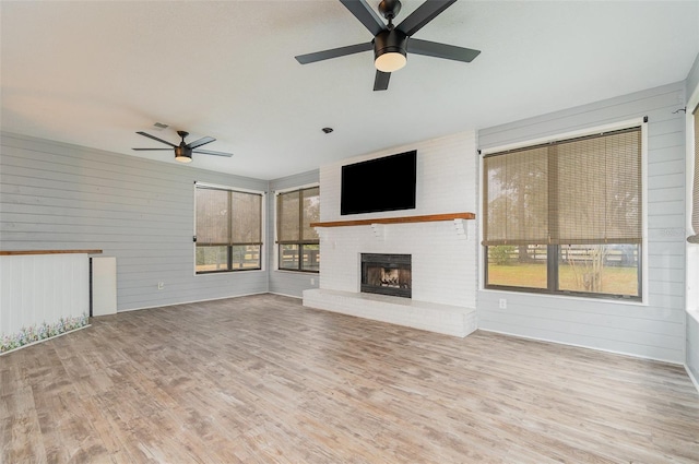
[[[493,155],[495,153],[508,152],[508,151],[517,151],[532,146],[545,145],[549,143],[564,142],[568,140],[587,138],[595,134],[602,134],[605,132],[615,132],[619,130],[626,130],[633,127],[640,127],[641,134],[641,150],[640,150],[640,192],[641,192],[641,241],[638,245],[638,296],[628,296],[628,295],[614,295],[614,294],[603,294],[603,293],[592,293],[592,292],[576,292],[576,290],[560,290],[558,289],[558,259],[550,259],[550,257],[558,257],[560,249],[562,246],[558,245],[548,245],[546,246],[546,288],[536,288],[536,287],[519,287],[519,286],[510,286],[510,285],[496,285],[488,284],[488,247],[483,245],[484,241],[484,230],[485,226],[483,221],[486,216],[484,214],[484,201],[479,202],[481,209],[481,237],[478,242],[478,253],[479,253],[479,262],[483,269],[483,272],[479,274],[479,283],[481,289],[483,290],[494,290],[494,292],[516,292],[522,294],[532,294],[532,295],[541,295],[541,296],[554,296],[554,297],[580,297],[585,300],[590,299],[603,299],[609,301],[619,301],[619,302],[631,302],[631,304],[641,304],[647,305],[648,301],[648,118],[638,118],[631,120],[625,120],[619,122],[614,122],[611,124],[597,126],[588,129],[581,129],[570,132],[564,132],[558,134],[553,134],[548,136],[543,136],[533,140],[525,140],[522,142],[516,142],[507,145],[493,146],[488,148],[483,148],[478,151],[479,156],[479,182],[481,182],[481,198],[486,198],[485,187],[486,182],[484,181],[485,171],[485,163],[484,158],[488,155]],[[599,243],[604,245],[604,243]]]

